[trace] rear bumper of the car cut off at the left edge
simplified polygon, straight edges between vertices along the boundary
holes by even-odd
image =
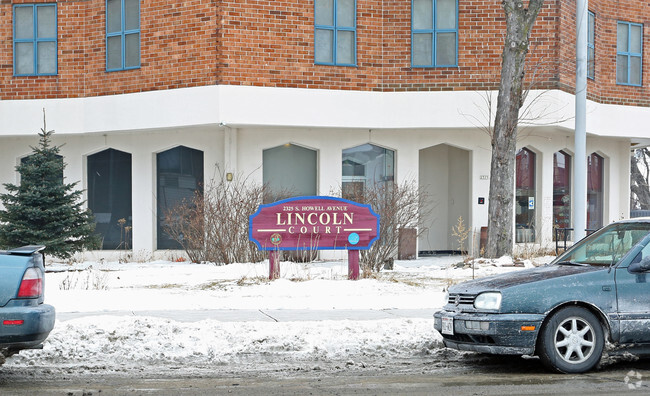
[[[53,306],[15,306],[0,309],[0,349],[20,350],[40,345],[54,328]]]

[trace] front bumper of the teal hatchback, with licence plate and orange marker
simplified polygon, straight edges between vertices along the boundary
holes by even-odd
[[[453,334],[442,332],[443,318],[453,321]],[[537,314],[485,314],[439,311],[434,328],[446,347],[500,355],[531,355],[544,320]]]

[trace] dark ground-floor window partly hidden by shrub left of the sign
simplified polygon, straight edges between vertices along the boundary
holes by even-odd
[[[165,214],[194,194],[203,193],[203,151],[179,146],[156,156],[158,180],[158,249],[180,249],[165,231]]]

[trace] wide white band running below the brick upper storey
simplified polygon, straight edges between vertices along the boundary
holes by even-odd
[[[495,97],[496,92],[491,95]],[[484,96],[472,91],[372,92],[213,85],[88,98],[4,100],[0,102],[0,136],[25,136],[39,131],[43,109],[48,128],[59,134],[200,125],[474,129],[486,123]],[[540,117],[536,125],[573,130],[573,95],[557,90],[535,91],[528,98],[534,100],[531,113]],[[648,107],[588,102],[587,116],[590,134],[648,139]]]

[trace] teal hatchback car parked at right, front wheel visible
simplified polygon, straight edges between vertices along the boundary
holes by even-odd
[[[445,346],[596,367],[606,344],[650,354],[650,218],[612,223],[552,263],[452,286],[434,315]]]

